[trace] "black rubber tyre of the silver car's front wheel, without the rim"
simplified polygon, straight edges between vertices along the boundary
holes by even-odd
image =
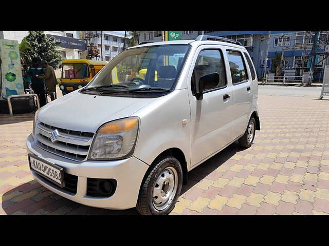
[[[148,173],[143,178],[139,196],[137,200],[136,209],[141,215],[167,215],[169,214],[175,207],[176,201],[181,191],[182,187],[182,169],[179,161],[172,156],[162,156],[155,160],[155,165],[148,171]],[[153,204],[153,187],[156,185],[155,181],[158,176],[164,171],[166,168],[171,167],[174,168],[177,172],[177,189],[176,194],[174,195],[172,202],[169,206],[163,210],[158,210]],[[176,180],[175,180],[176,182]]]

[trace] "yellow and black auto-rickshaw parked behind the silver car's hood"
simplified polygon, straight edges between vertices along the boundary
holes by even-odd
[[[86,86],[107,64],[107,61],[88,59],[63,60],[60,89],[63,95]]]

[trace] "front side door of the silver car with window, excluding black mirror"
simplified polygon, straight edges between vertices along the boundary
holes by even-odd
[[[225,147],[231,135],[232,88],[227,83],[223,50],[198,48],[190,71],[189,88],[191,108],[191,167]],[[200,77],[217,72],[220,81],[214,88],[204,91],[203,98],[195,97]]]

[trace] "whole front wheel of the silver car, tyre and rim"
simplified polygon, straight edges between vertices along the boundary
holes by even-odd
[[[167,215],[182,187],[182,169],[172,156],[163,156],[143,179],[136,209],[141,215]]]

